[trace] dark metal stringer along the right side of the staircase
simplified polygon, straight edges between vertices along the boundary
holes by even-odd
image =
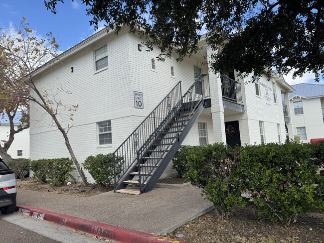
[[[183,130],[179,133],[178,138],[176,138],[175,142],[169,148],[169,151],[165,154],[164,158],[160,161],[160,165],[157,167],[154,174],[147,181],[147,184],[144,187],[142,187],[141,193],[146,193],[146,192],[152,191],[155,184],[158,182],[158,180],[162,176],[162,173],[164,172],[166,166],[172,160],[174,154],[179,149],[181,143],[183,142],[184,138],[189,133],[191,127],[194,124],[194,122],[197,121],[197,119],[200,116],[200,114],[202,113],[203,109],[204,109],[204,102],[201,101],[200,105],[198,105],[198,107],[197,107],[195,113],[193,114],[193,116],[190,118],[188,123],[184,126]]]

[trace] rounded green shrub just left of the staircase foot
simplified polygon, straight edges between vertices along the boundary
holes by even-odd
[[[124,158],[117,156],[116,173],[119,174],[124,164]],[[83,167],[90,173],[96,184],[101,187],[108,187],[114,178],[114,157],[112,153],[89,156],[82,163]]]

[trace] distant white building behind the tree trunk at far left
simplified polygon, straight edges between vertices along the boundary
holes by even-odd
[[[3,146],[2,140],[8,140],[10,133],[10,124],[7,115],[4,113],[4,116],[0,114],[0,141]],[[21,113],[17,111],[16,116],[13,120],[14,129],[17,130],[18,126],[21,125],[19,121],[21,118]],[[16,134],[14,134],[14,140],[7,151],[10,154],[11,158],[29,158],[29,128],[24,129]]]

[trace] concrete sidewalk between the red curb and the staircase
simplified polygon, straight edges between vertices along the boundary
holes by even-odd
[[[141,195],[111,191],[88,198],[17,189],[17,204],[155,235],[165,235],[213,209],[201,190],[188,183],[158,186]]]

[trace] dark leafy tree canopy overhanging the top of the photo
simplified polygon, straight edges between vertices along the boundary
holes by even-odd
[[[73,0],[72,0],[73,1]],[[56,13],[63,0],[45,0]],[[323,0],[82,0],[87,15],[117,32],[129,25],[146,36],[146,45],[177,59],[198,49],[202,33],[207,43],[222,51],[212,56],[214,72],[241,74],[276,68],[293,77],[314,72],[324,77]],[[147,35],[144,35],[144,32]],[[176,48],[175,48],[176,47]],[[270,71],[268,72],[270,74]]]

